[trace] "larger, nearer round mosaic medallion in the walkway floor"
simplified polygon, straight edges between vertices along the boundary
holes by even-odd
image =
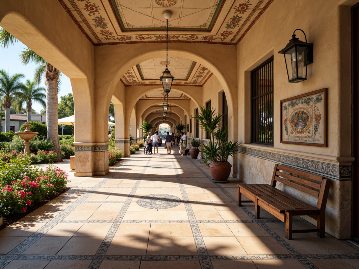
[[[181,199],[169,194],[149,194],[139,198],[136,203],[150,209],[167,209],[181,204]]]

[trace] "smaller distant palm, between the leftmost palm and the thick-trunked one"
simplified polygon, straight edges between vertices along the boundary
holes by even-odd
[[[27,110],[27,121],[31,121],[31,110],[32,102],[40,103],[44,108],[46,108],[46,89],[43,87],[36,88],[35,81],[26,80],[24,88],[16,93],[16,102],[18,112],[22,110],[23,106],[26,105]]]

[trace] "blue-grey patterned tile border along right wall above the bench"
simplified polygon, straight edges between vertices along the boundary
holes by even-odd
[[[326,162],[318,162],[284,154],[257,150],[254,148],[247,148],[239,146],[238,150],[242,154],[255,156],[261,159],[277,162],[284,165],[300,168],[306,171],[313,172],[326,178],[336,180],[351,180],[351,166],[350,165],[335,165]]]

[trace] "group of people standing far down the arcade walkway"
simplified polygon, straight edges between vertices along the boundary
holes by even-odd
[[[144,154],[153,154],[152,148],[154,148],[154,154],[158,154],[158,141],[160,137],[158,136],[158,132],[155,131],[155,134],[152,135],[151,132],[148,133],[148,136],[145,140],[145,147],[144,147]],[[183,156],[185,154],[185,150],[187,147],[187,136],[185,132],[180,133],[180,135],[174,136],[172,133],[171,135],[167,132],[166,136],[164,137],[165,140],[165,148],[167,149],[167,154],[171,154],[172,145],[175,143],[180,146],[180,155]],[[156,152],[157,149],[157,152]]]

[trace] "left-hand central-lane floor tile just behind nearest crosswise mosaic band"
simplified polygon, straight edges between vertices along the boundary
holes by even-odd
[[[148,237],[113,237],[106,255],[146,255],[147,244]]]

